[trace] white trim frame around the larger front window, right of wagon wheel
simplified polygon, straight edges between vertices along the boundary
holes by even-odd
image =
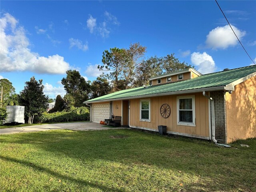
[[[179,99],[191,99],[192,98],[192,115],[193,115],[193,122],[180,122],[180,105],[179,105]],[[195,96],[194,95],[186,95],[186,96],[177,96],[177,125],[183,125],[183,126],[196,126],[196,105],[195,105]]]

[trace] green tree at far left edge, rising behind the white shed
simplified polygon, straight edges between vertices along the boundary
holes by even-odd
[[[17,95],[15,94],[15,88],[12,86],[12,82],[8,79],[0,79],[0,95],[3,87],[2,107],[6,108],[7,105],[18,104]]]

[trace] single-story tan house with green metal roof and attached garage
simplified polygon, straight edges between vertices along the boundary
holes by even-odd
[[[229,143],[256,136],[256,66],[210,74],[190,68],[150,78],[151,86],[85,101],[90,120]]]

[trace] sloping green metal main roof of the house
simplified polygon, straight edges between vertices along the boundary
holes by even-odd
[[[243,68],[232,69],[228,71],[215,72],[205,74],[193,79],[160,84],[154,86],[138,87],[127,90],[121,90],[111,94],[107,94],[98,98],[94,98],[84,103],[104,101],[104,100],[116,100],[122,98],[134,98],[140,96],[148,96],[154,94],[166,94],[179,91],[197,90],[202,88],[214,88],[231,84],[241,78],[244,78],[252,73],[256,72],[256,65],[247,66]]]

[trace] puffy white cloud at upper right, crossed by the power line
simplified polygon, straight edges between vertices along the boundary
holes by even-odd
[[[236,28],[233,25],[231,26],[236,35],[238,36],[239,40],[241,40],[241,38],[245,36],[246,32]],[[235,46],[236,44],[238,44],[238,40],[234,32],[229,25],[223,27],[216,27],[215,29],[211,30],[206,36],[206,46],[212,49],[226,49],[229,46]]]

